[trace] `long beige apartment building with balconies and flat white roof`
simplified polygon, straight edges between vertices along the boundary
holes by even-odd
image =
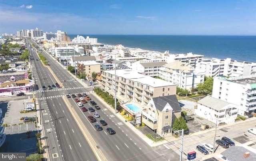
[[[114,96],[115,70],[102,71],[102,89]],[[117,99],[132,101],[140,106],[148,105],[152,97],[175,95],[176,85],[168,81],[139,74],[133,70],[116,70]]]

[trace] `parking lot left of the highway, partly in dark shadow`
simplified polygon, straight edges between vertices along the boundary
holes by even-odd
[[[20,113],[24,110],[24,99],[28,99],[28,95],[0,98],[4,123],[8,125],[5,129],[6,141],[0,147],[1,152],[22,152],[27,155],[37,152],[35,124],[23,123],[23,120],[20,120],[21,117],[35,117],[36,115],[36,112]]]

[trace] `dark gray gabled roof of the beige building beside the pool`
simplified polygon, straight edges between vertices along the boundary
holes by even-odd
[[[162,111],[167,103],[172,107],[172,111],[181,111],[180,103],[176,95],[166,95],[163,97],[154,97],[152,98],[156,109]]]

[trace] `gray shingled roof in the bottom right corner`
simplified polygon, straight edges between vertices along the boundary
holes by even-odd
[[[249,152],[250,156],[248,158],[244,157],[244,153]],[[221,153],[224,157],[230,159],[231,161],[255,161],[256,154],[244,147],[231,146]]]

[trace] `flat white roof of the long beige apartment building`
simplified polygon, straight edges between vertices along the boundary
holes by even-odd
[[[110,73],[112,75],[115,74],[115,70],[108,70],[104,72]],[[164,87],[164,86],[175,85],[174,83],[170,83],[168,81],[164,81],[164,80],[160,80],[150,76],[145,76],[143,74],[139,74],[137,71],[133,71],[133,70],[116,70],[116,76],[123,77],[125,79],[129,79],[132,81],[138,81],[142,84],[147,84],[151,87]]]

